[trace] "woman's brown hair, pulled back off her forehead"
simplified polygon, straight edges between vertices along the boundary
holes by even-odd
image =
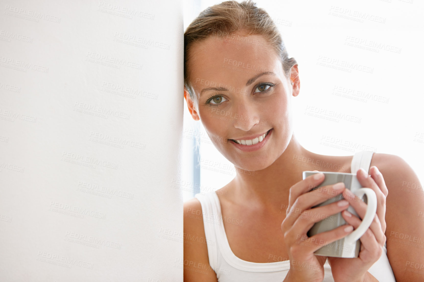
[[[245,0],[242,3],[234,0],[225,1],[202,11],[184,32],[184,86],[189,91],[190,97],[194,97],[187,67],[191,57],[189,56],[191,45],[209,36],[223,39],[239,31],[246,31],[246,35],[264,36],[279,55],[285,75],[290,76],[291,67],[297,62],[294,58],[288,58],[281,34],[269,14],[264,9],[258,8],[252,0]]]

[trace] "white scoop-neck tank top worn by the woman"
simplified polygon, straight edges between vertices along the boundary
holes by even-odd
[[[360,168],[369,170],[373,152],[360,151],[354,154],[351,172]],[[281,282],[290,269],[290,261],[275,263],[253,263],[242,260],[232,252],[225,233],[221,206],[216,193],[196,194],[203,213],[203,224],[208,249],[209,265],[215,271],[218,282]],[[386,245],[379,260],[368,270],[380,282],[396,282],[389,260]],[[293,265],[304,267],[304,265]],[[323,282],[334,282],[328,261],[324,264]]]

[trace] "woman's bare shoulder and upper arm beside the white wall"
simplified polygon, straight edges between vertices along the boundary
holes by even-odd
[[[184,282],[218,282],[209,265],[202,207],[198,199],[184,202]]]

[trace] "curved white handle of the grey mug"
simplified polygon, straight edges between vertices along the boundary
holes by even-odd
[[[372,189],[360,188],[355,191],[354,194],[359,198],[362,198],[364,194],[367,195],[367,210],[358,228],[345,237],[346,243],[355,243],[355,241],[361,238],[361,236],[364,235],[365,231],[367,231],[368,227],[370,227],[377,212],[377,196]]]

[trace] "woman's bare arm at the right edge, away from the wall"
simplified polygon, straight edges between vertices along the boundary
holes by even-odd
[[[388,195],[387,256],[397,282],[424,281],[424,193],[413,169],[400,157],[378,154]],[[376,156],[377,157],[377,156]]]

